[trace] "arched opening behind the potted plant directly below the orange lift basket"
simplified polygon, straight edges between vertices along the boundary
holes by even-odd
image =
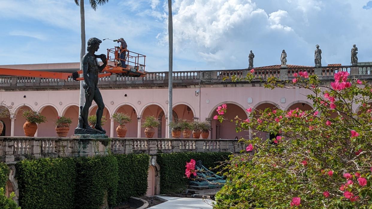
[[[131,105],[122,105],[116,112],[122,112],[129,115],[132,119],[131,123],[125,124],[127,132],[125,137],[135,138],[137,137],[137,112]],[[114,123],[114,128],[118,127],[119,123]],[[118,137],[116,131],[114,131],[113,137]]]

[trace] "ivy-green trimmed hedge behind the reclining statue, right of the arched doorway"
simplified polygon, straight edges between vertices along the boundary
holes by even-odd
[[[157,154],[157,162],[160,166],[160,193],[180,192],[186,188],[186,161],[190,161],[190,159],[202,160],[206,168],[214,168],[219,165],[218,162],[229,159],[230,154],[227,152]]]

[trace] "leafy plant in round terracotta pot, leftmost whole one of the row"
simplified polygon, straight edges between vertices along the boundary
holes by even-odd
[[[37,123],[45,123],[47,118],[40,114],[40,112],[33,110],[25,110],[22,112],[22,117],[26,119],[26,123],[23,124],[23,131],[25,131],[26,137],[33,137],[38,129]]]

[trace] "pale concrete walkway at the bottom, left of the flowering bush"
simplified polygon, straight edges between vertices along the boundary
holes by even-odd
[[[151,209],[213,209],[211,205],[213,201],[208,199],[165,196],[157,196],[157,198],[166,202],[152,206]]]

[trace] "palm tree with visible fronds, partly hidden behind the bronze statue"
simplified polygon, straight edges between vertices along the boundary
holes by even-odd
[[[81,29],[81,48],[80,48],[80,69],[81,68],[81,59],[85,54],[85,13],[84,13],[84,0],[74,0],[76,5],[80,4],[80,29]],[[97,9],[97,5],[102,6],[106,4],[109,0],[89,0],[89,4],[94,11]],[[80,74],[83,76],[83,74]],[[79,98],[79,107],[82,107],[85,102],[85,94],[83,89],[83,82],[80,82],[80,98]],[[79,108],[79,117],[80,117],[80,108]]]

